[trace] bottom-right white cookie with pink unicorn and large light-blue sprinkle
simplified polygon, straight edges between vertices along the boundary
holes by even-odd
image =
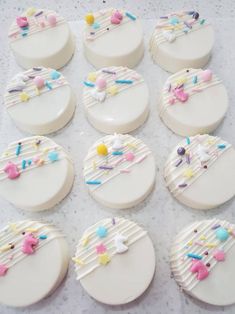
[[[194,222],[176,236],[171,270],[181,289],[200,301],[235,303],[235,225],[218,219]]]

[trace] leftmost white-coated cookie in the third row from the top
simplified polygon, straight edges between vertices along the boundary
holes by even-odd
[[[0,157],[0,196],[22,209],[55,206],[69,193],[73,179],[69,156],[47,137],[13,142]]]

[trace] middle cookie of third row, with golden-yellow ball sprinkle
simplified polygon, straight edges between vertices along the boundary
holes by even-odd
[[[83,173],[97,202],[110,208],[129,208],[153,189],[155,161],[141,140],[130,135],[108,135],[89,149]]]

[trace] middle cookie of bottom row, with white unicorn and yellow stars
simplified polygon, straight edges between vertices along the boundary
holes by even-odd
[[[155,272],[154,248],[147,231],[124,218],[103,219],[88,228],[73,261],[86,292],[111,305],[138,298]]]

